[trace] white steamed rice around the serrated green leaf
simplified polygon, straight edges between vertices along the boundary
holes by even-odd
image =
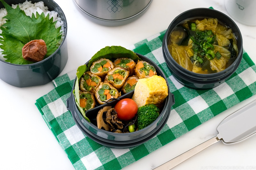
[[[60,31],[62,31],[62,36],[61,36],[61,40],[59,41],[59,44],[61,44],[63,38],[64,38],[64,24],[63,24],[63,21],[60,17],[58,17],[58,12],[56,11],[49,11],[48,10],[48,7],[47,6],[44,6],[44,3],[41,1],[41,2],[38,2],[38,3],[31,3],[31,1],[25,1],[24,3],[22,4],[12,4],[12,8],[16,8],[17,6],[19,5],[20,9],[23,10],[26,15],[28,16],[32,16],[32,13],[34,13],[34,15],[36,16],[36,12],[38,12],[40,15],[42,12],[44,12],[44,15],[48,15],[50,16],[50,18],[53,17],[53,22],[57,21],[56,24],[55,24],[55,28],[58,28],[61,26],[61,29]],[[1,8],[0,9],[0,26],[2,26],[4,23],[6,23],[6,19],[4,19],[3,17],[7,15],[7,11],[5,8]],[[0,29],[0,33],[2,33],[2,30]],[[0,59],[1,60],[6,60],[6,58],[4,58],[2,55],[2,49],[0,48]]]

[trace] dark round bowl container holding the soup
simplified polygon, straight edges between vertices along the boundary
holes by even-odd
[[[235,34],[238,47],[238,56],[234,63],[232,63],[225,70],[218,73],[199,74],[186,70],[172,58],[172,55],[170,54],[167,47],[170,33],[175,28],[175,26],[180,24],[185,19],[190,18],[217,18],[219,22],[225,24],[232,29],[233,33]],[[181,13],[176,18],[174,18],[164,35],[162,48],[164,60],[167,63],[173,77],[182,85],[194,89],[209,89],[224,83],[236,71],[243,57],[242,35],[236,23],[224,13],[209,8],[191,9]]]

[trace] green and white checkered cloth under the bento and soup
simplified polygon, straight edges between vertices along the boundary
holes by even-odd
[[[113,149],[88,138],[77,127],[66,107],[76,70],[56,78],[53,81],[56,88],[36,100],[45,122],[76,170],[122,169],[256,93],[256,67],[245,52],[240,66],[225,83],[209,90],[194,90],[181,85],[173,78],[164,61],[164,33],[158,33],[129,48],[158,64],[175,97],[167,123],[148,142],[137,147]]]

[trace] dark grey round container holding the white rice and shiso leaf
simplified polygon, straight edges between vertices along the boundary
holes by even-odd
[[[56,11],[59,13],[64,23],[64,39],[59,48],[52,55],[37,63],[17,65],[0,59],[0,78],[4,82],[16,87],[47,84],[60,74],[68,61],[66,17],[60,6],[52,0],[31,0],[31,3],[40,1],[44,2],[44,6],[47,6],[49,11]],[[25,0],[9,0],[6,2],[12,6],[12,4],[24,3]],[[0,3],[0,8],[4,8],[2,3]]]

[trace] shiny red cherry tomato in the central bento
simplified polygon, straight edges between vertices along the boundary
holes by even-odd
[[[117,112],[117,118],[124,121],[131,120],[138,111],[138,105],[132,99],[119,100],[114,108]]]

